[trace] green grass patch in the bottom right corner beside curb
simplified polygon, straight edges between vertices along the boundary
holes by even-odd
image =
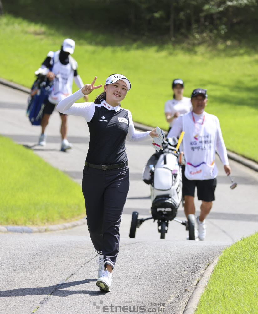
[[[195,314],[258,313],[258,232],[224,249]]]

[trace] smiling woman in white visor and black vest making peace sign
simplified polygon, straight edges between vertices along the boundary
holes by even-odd
[[[94,86],[96,79],[59,102],[57,110],[83,116],[90,130],[82,192],[90,238],[99,254],[96,284],[100,290],[110,291],[119,250],[121,215],[129,190],[125,140],[151,139],[156,129],[148,132],[134,129],[131,112],[120,106],[131,88],[130,81],[121,74],[112,74],[106,79],[104,92],[94,102],[76,104],[76,100],[102,86]]]

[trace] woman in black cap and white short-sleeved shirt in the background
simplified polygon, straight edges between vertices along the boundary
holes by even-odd
[[[169,122],[168,132],[173,127],[176,118],[192,110],[191,98],[183,96],[184,83],[180,78],[173,80],[172,90],[174,92],[173,99],[165,103],[165,116]]]

